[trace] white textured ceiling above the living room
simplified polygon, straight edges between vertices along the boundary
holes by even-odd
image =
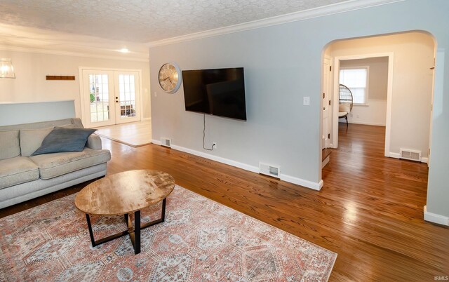
[[[0,23],[149,43],[347,0],[1,0]]]

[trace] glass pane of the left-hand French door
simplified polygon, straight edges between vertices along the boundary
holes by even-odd
[[[89,74],[91,123],[109,121],[109,88],[107,74]]]

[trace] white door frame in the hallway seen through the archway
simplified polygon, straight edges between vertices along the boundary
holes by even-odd
[[[363,54],[363,55],[349,55],[349,56],[339,56],[334,57],[334,95],[333,95],[333,126],[332,126],[332,136],[330,138],[330,147],[338,147],[338,95],[339,95],[339,83],[340,81],[340,60],[359,60],[377,57],[388,57],[388,79],[387,79],[387,121],[385,123],[385,149],[384,156],[389,156],[390,152],[390,135],[391,135],[391,99],[393,95],[393,63],[394,63],[394,53],[373,53],[373,54]]]

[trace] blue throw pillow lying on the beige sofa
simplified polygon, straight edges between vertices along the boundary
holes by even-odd
[[[96,129],[55,127],[43,139],[41,147],[32,156],[60,152],[81,152],[86,146],[87,138]]]

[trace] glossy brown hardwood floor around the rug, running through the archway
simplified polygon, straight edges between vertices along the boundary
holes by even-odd
[[[427,165],[383,156],[384,128],[340,126],[340,148],[311,189],[157,145],[103,138],[108,173],[155,169],[198,194],[338,254],[330,281],[435,281],[449,276],[449,228],[423,220]],[[0,217],[86,184],[0,210]]]

